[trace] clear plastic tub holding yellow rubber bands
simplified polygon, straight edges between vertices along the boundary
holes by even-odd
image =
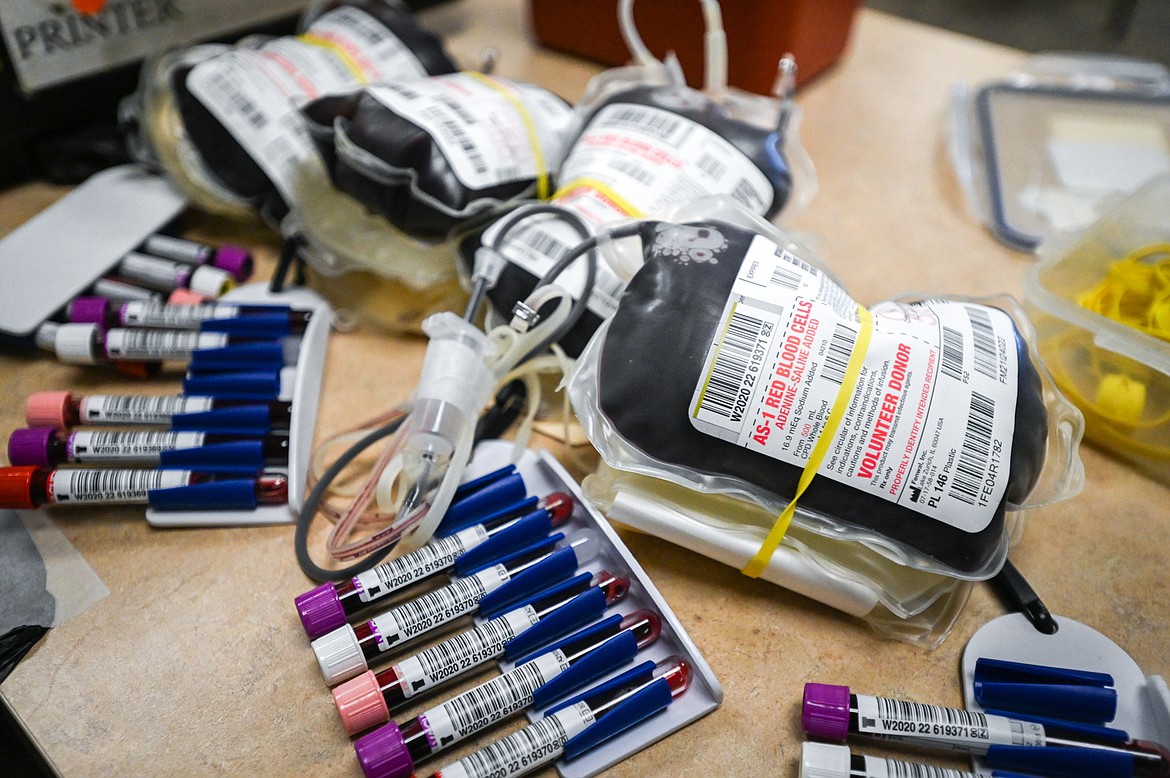
[[[1159,177],[1083,233],[1045,247],[1024,283],[1040,356],[1085,414],[1086,438],[1170,482],[1170,343],[1078,303],[1119,260],[1170,243],[1166,213],[1170,177]],[[1170,296],[1161,305],[1170,315]]]

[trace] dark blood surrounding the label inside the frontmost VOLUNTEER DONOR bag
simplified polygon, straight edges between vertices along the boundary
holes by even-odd
[[[728,225],[696,227],[718,229],[727,240],[717,261],[653,256],[658,227],[654,222],[644,226],[646,264],[627,285],[606,330],[598,362],[598,405],[617,433],[647,456],[697,474],[732,476],[786,501],[794,494],[801,468],[700,432],[688,418],[708,350],[753,237]],[[1018,331],[1016,351],[1019,369],[1009,481],[984,529],[964,531],[824,475],[812,480],[799,507],[872,530],[951,570],[984,570],[1002,549],[1005,504],[1023,503],[1039,477],[1046,450],[1040,378]]]

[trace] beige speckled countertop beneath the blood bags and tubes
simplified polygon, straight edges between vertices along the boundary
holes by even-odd
[[[428,21],[464,61],[494,46],[502,75],[576,98],[597,68],[534,48],[522,7],[463,0]],[[1021,58],[862,11],[845,58],[801,90],[800,135],[820,188],[792,226],[855,298],[1020,295],[1033,260],[998,245],[968,213],[943,124],[952,84],[1002,75]],[[0,192],[0,234],[63,192],[37,184]],[[273,267],[275,239],[262,228],[202,218],[191,235],[257,246],[262,270]],[[407,397],[421,354],[415,339],[335,335],[318,436]],[[29,392],[63,387],[128,388],[102,371],[4,353],[0,429],[21,425]],[[1012,558],[1058,617],[1109,635],[1148,673],[1164,674],[1170,493],[1097,450],[1082,456],[1083,494],[1034,511]],[[359,774],[292,610],[310,581],[296,566],[290,526],[160,531],[131,509],[53,518],[110,595],[50,631],[0,695],[63,774]],[[684,549],[624,537],[725,697],[614,776],[796,776],[806,681],[959,704],[963,647],[1004,613],[977,586],[950,638],[927,652],[879,639],[859,620]]]

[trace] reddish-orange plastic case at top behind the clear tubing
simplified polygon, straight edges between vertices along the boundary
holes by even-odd
[[[531,0],[532,32],[549,48],[610,66],[629,53],[618,29],[617,0]],[[776,66],[796,56],[800,84],[840,58],[858,0],[731,0],[722,4],[728,37],[728,82],[772,94]],[[702,85],[703,14],[694,0],[638,0],[634,20],[659,58],[674,50],[687,83]]]

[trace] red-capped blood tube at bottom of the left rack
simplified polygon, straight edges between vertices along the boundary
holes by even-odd
[[[288,502],[283,475],[215,481],[191,470],[0,468],[0,508],[147,504],[164,510],[239,510]]]

